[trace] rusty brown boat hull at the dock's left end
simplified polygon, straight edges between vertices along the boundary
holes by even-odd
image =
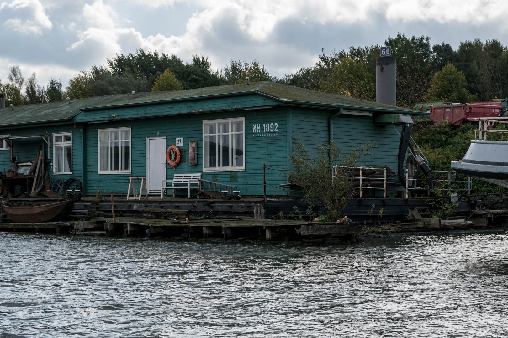
[[[71,214],[74,201],[61,201],[43,205],[4,205],[4,212],[17,223],[39,223],[65,219]]]

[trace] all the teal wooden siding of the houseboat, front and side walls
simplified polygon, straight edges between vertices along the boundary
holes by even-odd
[[[45,125],[24,129],[0,130],[0,134],[35,135],[72,132],[73,136],[73,174],[52,175],[67,179],[75,176],[84,183],[84,194],[92,196],[101,193],[126,195],[129,177],[146,176],[146,142],[148,137],[166,136],[166,147],[175,144],[177,137],[183,137],[180,148],[181,161],[176,168],[169,165],[167,179],[175,173],[203,172],[203,121],[230,118],[245,118],[245,170],[244,171],[204,171],[202,177],[234,185],[243,196],[263,194],[263,164],[269,167],[267,174],[268,196],[284,196],[287,189],[278,185],[287,183],[283,177],[289,168],[288,156],[298,140],[306,146],[310,156],[316,155],[318,144],[328,140],[329,109],[296,106],[280,106],[280,103],[261,95],[238,95],[216,97],[194,101],[143,106],[125,106],[110,109],[85,110],[68,124]],[[243,107],[270,106],[257,110],[231,110]],[[230,111],[225,111],[230,109]],[[216,110],[216,111],[214,111]],[[210,112],[214,111],[214,112]],[[103,123],[82,124],[86,121]],[[108,121],[108,122],[106,122]],[[77,122],[74,128],[74,122]],[[266,130],[266,126],[269,130]],[[99,129],[131,127],[131,172],[126,174],[99,174]],[[275,127],[277,130],[275,130]],[[0,127],[1,128],[1,127]],[[288,129],[289,128],[289,129]],[[362,156],[359,165],[383,167],[388,165],[397,169],[399,136],[393,126],[374,125],[372,116],[352,116],[343,114],[334,119],[333,139],[345,154],[353,146],[375,142],[370,155]],[[53,159],[52,137],[50,138],[50,158]],[[188,164],[188,143],[197,141],[197,165]],[[14,140],[13,156],[19,162],[33,161],[38,154],[39,139]],[[165,154],[164,154],[165,157]],[[161,160],[165,160],[165,158]],[[10,151],[0,151],[0,169],[9,170]],[[184,195],[186,194],[183,193]]]

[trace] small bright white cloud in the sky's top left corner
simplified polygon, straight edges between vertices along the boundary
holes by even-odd
[[[2,3],[0,12],[10,17],[4,21],[5,27],[23,34],[42,35],[43,29],[51,29],[53,26],[38,0],[14,0],[10,4]]]

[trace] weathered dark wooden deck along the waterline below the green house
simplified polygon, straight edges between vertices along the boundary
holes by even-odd
[[[215,210],[200,210],[193,213],[189,208],[149,208],[140,206],[137,215],[144,217],[103,217],[104,214],[93,208],[75,210],[77,221],[40,222],[40,223],[0,223],[0,231],[31,232],[52,234],[75,234],[88,236],[162,236],[175,239],[277,239],[295,241],[319,241],[326,238],[338,238],[340,241],[348,236],[354,238],[362,234],[389,234],[409,232],[429,232],[446,230],[483,230],[489,228],[508,227],[508,210],[464,210],[456,212],[453,219],[437,218],[414,219],[398,223],[378,223],[376,226],[365,227],[363,223],[318,223],[297,219],[254,219],[254,218],[205,218],[214,217]],[[209,205],[211,207],[212,205]],[[230,205],[227,205],[228,208]],[[99,206],[97,206],[99,207]],[[223,206],[219,205],[219,209]],[[250,205],[247,208],[250,213]],[[210,216],[213,215],[213,216]],[[233,216],[233,217],[231,217]],[[246,215],[242,216],[245,217]],[[177,219],[171,219],[176,217]],[[184,219],[190,218],[188,221]],[[236,216],[237,217],[237,216]]]

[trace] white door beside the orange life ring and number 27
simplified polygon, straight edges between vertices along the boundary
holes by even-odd
[[[148,194],[160,194],[166,179],[166,136],[146,138],[146,183]]]

